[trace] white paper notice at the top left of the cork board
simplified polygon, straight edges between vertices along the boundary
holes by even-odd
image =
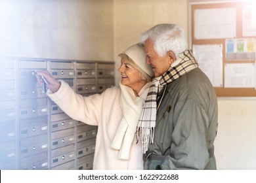
[[[194,11],[194,39],[236,37],[236,9],[211,8]]]

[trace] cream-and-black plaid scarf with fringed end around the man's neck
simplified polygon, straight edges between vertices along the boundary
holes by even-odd
[[[143,154],[148,150],[148,145],[154,142],[154,127],[156,126],[156,113],[158,110],[157,100],[158,94],[163,89],[163,86],[198,67],[198,63],[190,50],[182,52],[175,63],[178,64],[174,67],[171,65],[166,73],[155,78],[143,105],[136,131],[136,139],[138,142],[140,137]]]

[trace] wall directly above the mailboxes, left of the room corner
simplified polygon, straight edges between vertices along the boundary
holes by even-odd
[[[1,0],[0,56],[113,61],[113,0]]]

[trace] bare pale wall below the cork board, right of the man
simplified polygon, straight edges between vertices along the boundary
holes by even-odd
[[[256,99],[219,98],[218,169],[256,169]]]

